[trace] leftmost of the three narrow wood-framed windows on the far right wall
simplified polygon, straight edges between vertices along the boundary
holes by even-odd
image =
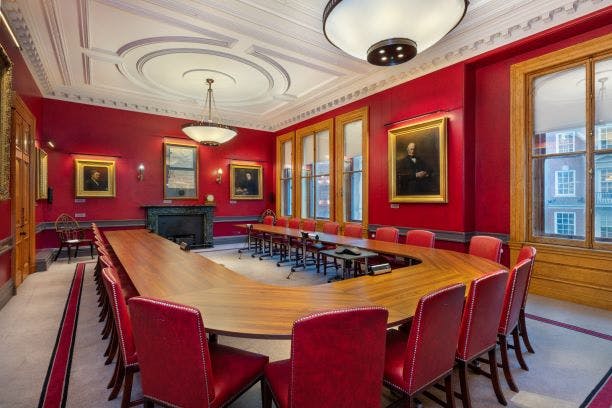
[[[276,169],[278,195],[276,213],[282,217],[293,216],[293,132],[276,139]]]

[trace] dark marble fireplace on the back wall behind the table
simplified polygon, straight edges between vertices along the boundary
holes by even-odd
[[[214,205],[144,206],[147,228],[192,248],[212,247]]]

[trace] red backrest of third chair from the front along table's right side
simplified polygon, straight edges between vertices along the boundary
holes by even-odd
[[[506,292],[504,293],[501,318],[499,319],[499,334],[508,335],[518,323],[530,270],[531,260],[524,259],[510,271],[508,283],[506,284]]]

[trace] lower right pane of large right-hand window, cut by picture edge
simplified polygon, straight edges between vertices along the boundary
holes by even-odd
[[[595,240],[612,242],[612,154],[595,155]]]

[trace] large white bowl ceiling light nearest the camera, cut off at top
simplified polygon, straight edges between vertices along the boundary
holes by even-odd
[[[336,47],[380,66],[412,59],[459,24],[467,0],[330,0],[323,32]]]

